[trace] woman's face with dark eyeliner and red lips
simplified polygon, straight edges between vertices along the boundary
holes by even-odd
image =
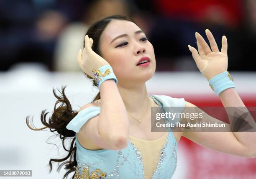
[[[119,84],[146,82],[155,73],[154,48],[145,33],[131,21],[111,20],[101,35],[100,51],[112,66]],[[145,56],[150,59],[148,66],[137,66]]]

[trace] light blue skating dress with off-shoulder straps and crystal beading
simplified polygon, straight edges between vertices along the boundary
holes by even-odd
[[[184,98],[172,98],[165,95],[149,95],[161,107],[164,113],[165,106],[179,107],[179,112],[182,113],[185,106]],[[177,109],[177,108],[176,108]],[[177,110],[176,110],[177,111]],[[90,118],[100,113],[100,107],[87,107],[80,111],[67,125],[67,129],[76,132],[76,159],[78,163],[79,174],[82,174],[82,169],[87,167],[89,174],[96,169],[100,169],[106,173],[104,179],[143,179],[144,167],[140,151],[130,140],[128,146],[120,151],[115,150],[88,150],[83,148],[78,140],[77,133],[84,123]],[[176,122],[178,118],[174,119]],[[165,122],[168,120],[165,119]],[[177,166],[177,141],[170,127],[166,142],[161,149],[161,156],[154,171],[152,179],[170,179]],[[106,129],[107,130],[107,129]],[[98,177],[100,178],[100,177]]]

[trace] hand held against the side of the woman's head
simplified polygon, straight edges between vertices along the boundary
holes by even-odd
[[[79,50],[77,62],[84,73],[94,78],[92,70],[98,69],[103,65],[109,65],[109,63],[92,50],[92,43],[92,38],[86,35],[84,38],[84,49]]]

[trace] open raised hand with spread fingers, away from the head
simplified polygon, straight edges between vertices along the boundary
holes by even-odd
[[[205,39],[197,32],[195,33],[195,36],[199,53],[194,47],[190,45],[188,45],[188,47],[192,52],[193,59],[195,60],[198,69],[209,81],[215,75],[228,70],[228,42],[226,36],[222,36],[222,47],[221,51],[219,51],[212,33],[208,29],[206,29],[205,33],[210,42],[211,49]]]

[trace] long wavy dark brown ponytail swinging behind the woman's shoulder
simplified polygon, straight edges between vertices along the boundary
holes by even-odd
[[[65,88],[67,86],[61,87],[61,91],[58,90],[61,95],[58,96],[56,95],[55,89],[53,89],[54,96],[57,98],[57,101],[54,105],[54,112],[51,115],[51,118],[49,118],[48,123],[46,121],[46,110],[43,110],[41,113],[41,122],[45,126],[43,128],[35,128],[33,125],[33,120],[30,123],[29,121],[29,116],[26,117],[26,124],[28,125],[28,128],[31,130],[43,130],[45,128],[49,128],[51,132],[57,131],[59,133],[59,138],[62,141],[62,146],[65,151],[69,152],[67,156],[65,156],[62,159],[50,159],[49,161],[49,171],[51,172],[52,170],[52,162],[62,162],[59,166],[57,171],[59,172],[62,166],[65,165],[65,169],[68,171],[64,174],[63,179],[69,175],[69,173],[76,171],[76,166],[77,166],[77,160],[76,160],[76,143],[75,143],[75,132],[73,130],[68,130],[66,128],[67,124],[77,115],[77,111],[72,110],[72,106],[67,99],[67,96],[65,95]],[[57,105],[60,104],[58,107]],[[32,124],[32,125],[31,125]],[[67,146],[64,145],[65,140],[67,138],[73,138],[72,143],[69,146],[69,149],[67,149]],[[68,161],[66,161],[69,159]],[[73,176],[74,177],[74,176]]]

